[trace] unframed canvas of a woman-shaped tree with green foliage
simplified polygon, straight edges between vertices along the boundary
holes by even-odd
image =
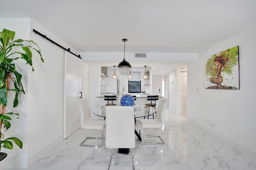
[[[207,89],[239,89],[238,46],[205,59]]]

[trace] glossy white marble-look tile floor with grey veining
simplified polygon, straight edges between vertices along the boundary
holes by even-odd
[[[136,137],[135,170],[256,170],[256,158],[203,131],[186,116],[172,115],[166,109],[165,120],[162,129],[151,131],[159,134],[165,145],[142,145]],[[105,145],[99,149],[80,147],[86,136],[100,136],[100,132],[78,129],[23,170],[107,170],[110,149]],[[114,155],[110,168],[130,170],[130,155],[131,150],[128,155]]]

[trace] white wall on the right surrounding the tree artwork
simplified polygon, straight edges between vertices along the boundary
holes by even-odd
[[[204,89],[204,58],[238,45],[240,90]],[[222,41],[188,65],[188,118],[256,152],[256,26]],[[198,92],[196,91],[198,88]],[[210,127],[209,121],[214,122]]]

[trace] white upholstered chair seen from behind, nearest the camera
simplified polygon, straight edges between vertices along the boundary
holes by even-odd
[[[106,107],[106,148],[110,148],[110,168],[112,149],[132,148],[132,164],[134,168],[133,149],[135,147],[134,107]]]

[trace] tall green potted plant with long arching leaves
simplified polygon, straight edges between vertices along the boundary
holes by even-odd
[[[32,51],[36,51],[40,55],[41,61],[44,62],[40,48],[34,41],[23,39],[14,40],[14,36],[15,32],[8,29],[3,29],[0,32],[0,169],[1,167],[3,168],[2,161],[7,156],[6,153],[1,152],[2,147],[13,149],[12,142],[14,142],[22,149],[22,141],[20,139],[17,137],[5,138],[2,131],[2,129],[7,131],[11,127],[10,121],[12,120],[12,116],[16,116],[17,119],[19,118],[18,113],[5,113],[8,92],[15,92],[13,107],[18,106],[18,95],[20,92],[25,94],[21,82],[22,74],[16,70],[14,61],[26,61],[26,64],[32,66],[33,72]],[[13,82],[13,89],[10,89],[10,82]]]

